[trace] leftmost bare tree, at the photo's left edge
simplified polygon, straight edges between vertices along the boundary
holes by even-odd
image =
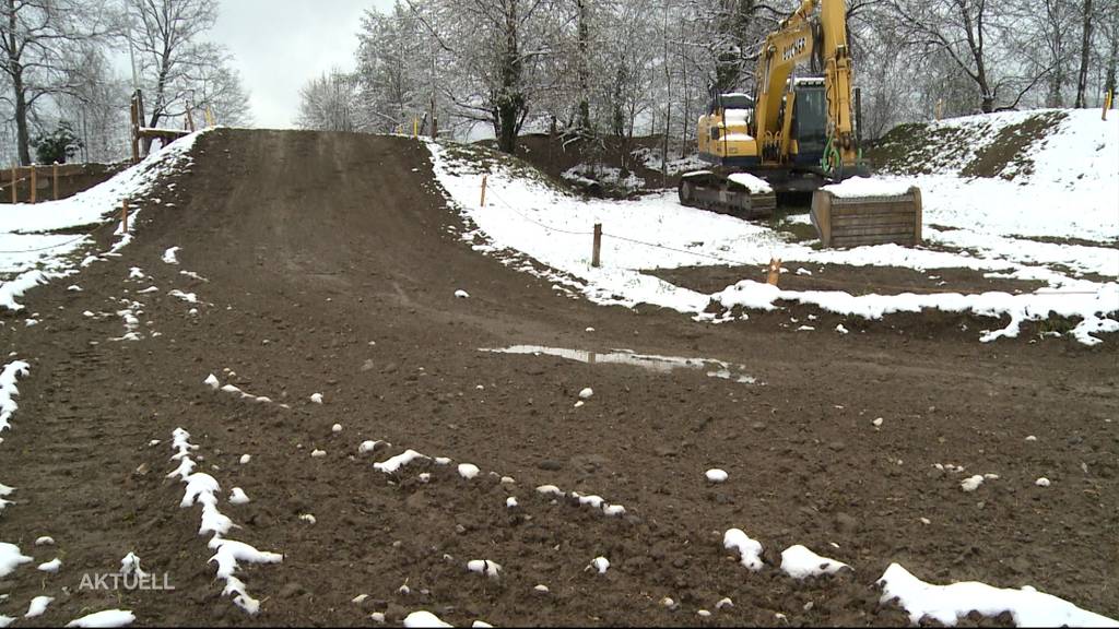
[[[20,163],[31,162],[29,119],[44,97],[72,91],[75,48],[105,32],[98,3],[87,0],[0,0],[3,100],[16,126]]]

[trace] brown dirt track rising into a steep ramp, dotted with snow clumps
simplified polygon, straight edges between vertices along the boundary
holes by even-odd
[[[1119,616],[1119,339],[984,345],[974,331],[930,338],[918,317],[798,334],[779,327],[788,312],[711,326],[596,307],[460,242],[425,156],[401,138],[213,132],[175,191],[158,194],[177,207],[147,204],[121,257],[26,295],[38,326],[3,316],[3,347],[32,370],[0,445],[0,480],[18,488],[0,539],[64,563],[0,582],[0,613],[46,594],[58,600],[20,626],[115,607],[140,626],[368,626],[372,611],[399,623],[417,609],[455,625],[777,625],[783,613],[897,626],[905,614],[878,603],[874,582],[900,562],[930,581],[1033,584]],[[170,246],[181,265],[160,261]],[[150,279],[128,280],[131,266]],[[149,284],[160,290],[138,294]],[[196,316],[175,288],[198,294]],[[82,316],[114,312],[121,297],[144,303],[143,340],[110,341],[120,317]],[[718,358],[763,384],[477,351],[518,342]],[[291,409],[213,393],[210,373]],[[575,409],[585,386],[594,396]],[[322,405],[308,400],[317,392]],[[177,426],[200,447],[200,471],[253,499],[223,500],[242,526],[233,537],[284,553],[239,573],[262,600],[255,618],[220,598],[199,508],[180,508],[181,482],[164,478]],[[358,456],[366,439],[393,445]],[[407,448],[482,475],[373,468]],[[1000,478],[965,494],[961,475],[934,463]],[[707,485],[711,467],[730,480]],[[1053,486],[1035,487],[1042,476]],[[542,484],[601,495],[627,516],[552,504],[533,490]],[[731,527],[765,545],[761,573],[722,547]],[[40,535],[57,547],[34,546]],[[792,544],[855,570],[787,579],[773,566]],[[79,589],[130,551],[176,590]],[[599,555],[611,562],[603,576],[584,570]],[[476,558],[502,564],[500,579],[468,573]],[[734,607],[716,611],[723,597]]]

